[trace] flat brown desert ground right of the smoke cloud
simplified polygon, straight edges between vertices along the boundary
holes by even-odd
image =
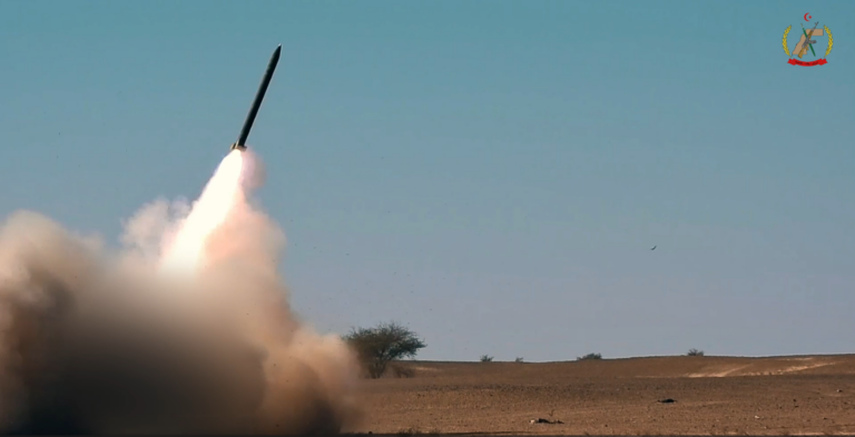
[[[365,417],[350,431],[855,434],[855,355],[400,366],[413,375],[361,383]]]

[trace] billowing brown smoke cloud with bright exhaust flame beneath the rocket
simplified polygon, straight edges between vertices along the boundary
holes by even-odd
[[[285,238],[233,151],[193,207],[156,201],[108,254],[33,212],[0,229],[0,431],[334,434],[357,366],[292,314]]]

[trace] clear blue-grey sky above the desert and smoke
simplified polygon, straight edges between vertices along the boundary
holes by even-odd
[[[320,330],[396,319],[449,360],[853,352],[853,18],[855,1],[2,1],[0,216],[115,240],[144,203],[195,198],[282,43],[248,145]],[[787,64],[784,30],[792,49],[817,20],[828,63]]]

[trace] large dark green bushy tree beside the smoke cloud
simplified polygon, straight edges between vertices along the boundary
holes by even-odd
[[[389,361],[413,358],[419,349],[428,346],[415,332],[395,321],[374,328],[353,328],[344,340],[356,351],[372,379],[383,376]]]

